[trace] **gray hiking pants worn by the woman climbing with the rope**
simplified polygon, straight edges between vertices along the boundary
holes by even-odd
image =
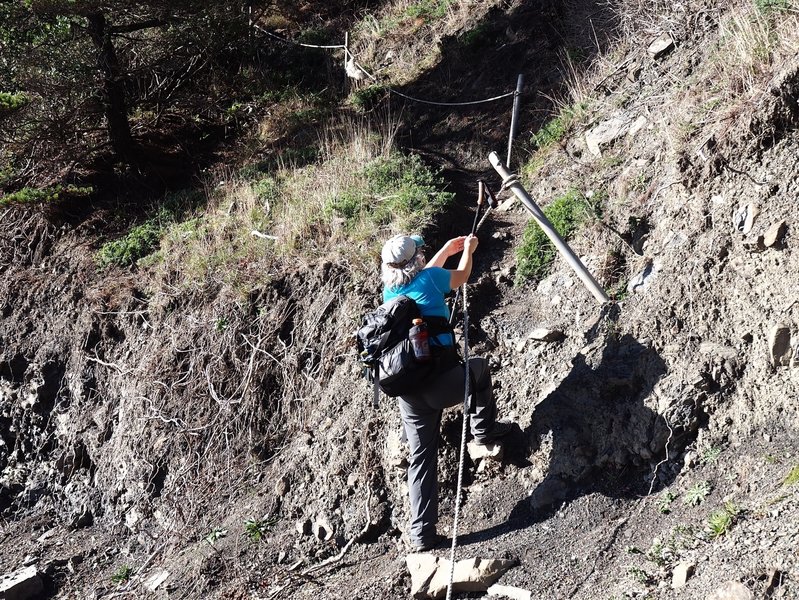
[[[491,373],[484,358],[469,359],[476,413],[470,415],[472,435],[485,436],[494,427],[497,409]],[[436,534],[438,522],[438,437],[443,409],[463,403],[465,372],[456,365],[442,373],[424,391],[400,396],[402,425],[410,446],[408,491],[411,499],[409,537],[423,544]],[[476,401],[476,402],[475,402]]]

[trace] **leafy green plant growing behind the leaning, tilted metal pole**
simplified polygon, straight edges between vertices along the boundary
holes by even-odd
[[[575,189],[569,190],[544,208],[544,215],[564,239],[568,239],[574,233],[589,212],[585,196]],[[516,249],[517,284],[546,276],[556,252],[555,246],[538,223],[531,220],[525,227],[521,243]]]

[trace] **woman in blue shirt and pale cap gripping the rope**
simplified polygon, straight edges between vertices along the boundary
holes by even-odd
[[[469,279],[472,254],[478,240],[473,235],[449,240],[429,262],[424,257],[424,241],[418,235],[398,235],[383,245],[383,301],[404,294],[416,301],[422,317],[449,319],[444,296]],[[462,252],[456,269],[443,268],[450,256]],[[410,446],[408,491],[411,501],[409,538],[417,551],[438,546],[445,538],[436,532],[438,522],[438,437],[444,408],[463,402],[464,365],[459,362],[452,333],[431,335],[431,349],[443,362],[440,374],[421,391],[399,397],[400,414]],[[471,429],[478,443],[488,444],[507,435],[511,424],[497,421],[488,361],[470,358],[473,406]]]

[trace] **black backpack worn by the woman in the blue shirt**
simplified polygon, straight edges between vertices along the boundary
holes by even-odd
[[[375,385],[375,404],[379,389],[392,397],[412,394],[445,367],[457,363],[454,346],[444,349],[434,344],[430,346],[432,360],[416,360],[408,332],[419,317],[419,307],[408,296],[396,296],[364,316],[355,337],[365,375]],[[428,316],[424,320],[431,338],[445,332],[452,334],[447,319]]]

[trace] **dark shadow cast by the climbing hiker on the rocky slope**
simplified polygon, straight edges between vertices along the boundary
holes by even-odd
[[[667,444],[673,458],[690,436],[672,430],[669,439],[665,419],[645,404],[666,373],[662,358],[631,335],[617,339],[606,333],[604,341],[592,346],[594,350],[577,355],[569,375],[505,445],[506,460],[519,467],[530,465],[536,452],[548,450],[543,481],[505,522],[464,535],[461,543],[546,520],[564,502],[585,494],[633,498],[674,480],[677,463],[661,465],[657,473],[654,466],[666,456]],[[524,440],[516,437],[520,435]]]

